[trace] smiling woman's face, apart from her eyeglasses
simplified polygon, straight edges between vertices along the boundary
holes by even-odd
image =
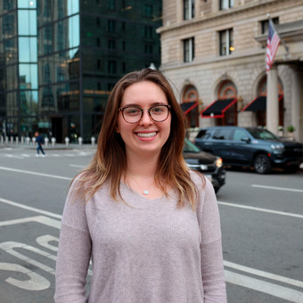
[[[120,107],[137,106],[150,109],[154,105],[168,105],[168,100],[162,89],[151,81],[137,82],[128,86],[122,96]],[[148,111],[144,110],[142,119],[137,123],[127,123],[119,111],[117,132],[120,133],[127,151],[131,155],[160,154],[162,146],[167,142],[170,133],[171,115],[162,122],[151,119]]]

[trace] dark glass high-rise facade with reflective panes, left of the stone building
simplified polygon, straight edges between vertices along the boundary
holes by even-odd
[[[160,65],[160,0],[3,0],[0,135],[96,135],[108,95]]]

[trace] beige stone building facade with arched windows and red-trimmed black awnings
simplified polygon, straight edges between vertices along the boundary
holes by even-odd
[[[267,14],[283,39],[268,76]],[[293,126],[303,141],[302,0],[163,0],[158,32],[191,127]]]

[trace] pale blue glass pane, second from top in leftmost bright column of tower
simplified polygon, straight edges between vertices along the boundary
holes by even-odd
[[[24,36],[37,36],[37,11],[18,11],[18,34]]]

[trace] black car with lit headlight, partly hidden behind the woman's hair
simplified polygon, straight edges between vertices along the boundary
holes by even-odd
[[[184,159],[189,168],[198,170],[207,176],[214,186],[215,192],[225,184],[225,168],[222,159],[201,149],[185,138]]]

